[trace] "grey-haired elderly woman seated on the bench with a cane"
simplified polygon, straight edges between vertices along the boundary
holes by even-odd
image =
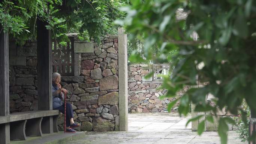
[[[67,94],[67,90],[60,85],[61,75],[59,73],[52,74],[52,108],[64,113],[64,93]],[[74,123],[74,114],[71,104],[66,104],[66,132],[76,132],[73,128],[79,126]]]

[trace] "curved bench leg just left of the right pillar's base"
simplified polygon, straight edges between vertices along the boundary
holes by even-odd
[[[28,119],[26,125],[27,136],[42,137],[41,122],[43,117]]]

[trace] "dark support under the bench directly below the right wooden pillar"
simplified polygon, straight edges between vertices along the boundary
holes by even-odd
[[[53,120],[52,116],[43,117],[41,123],[41,129],[43,134],[51,134],[53,133]]]

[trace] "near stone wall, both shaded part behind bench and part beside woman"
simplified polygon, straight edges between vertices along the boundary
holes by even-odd
[[[74,37],[74,76],[61,77],[68,90],[74,120],[81,131],[119,130],[118,36],[109,36],[98,45]],[[24,46],[9,44],[10,112],[37,110],[37,48],[35,41]],[[63,130],[64,117],[58,127]]]

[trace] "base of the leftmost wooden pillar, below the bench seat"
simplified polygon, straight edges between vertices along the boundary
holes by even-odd
[[[9,123],[0,124],[0,144],[10,143],[10,125]]]

